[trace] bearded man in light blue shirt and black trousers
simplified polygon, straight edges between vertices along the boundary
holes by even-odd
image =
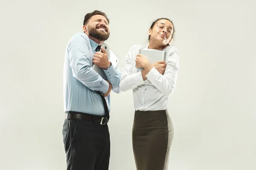
[[[108,119],[111,90],[119,93],[121,73],[108,61],[100,45],[110,35],[105,13],[93,11],[84,17],[83,31],[67,45],[64,61],[64,147],[67,170],[108,170],[110,136]],[[99,52],[99,50],[102,52]],[[103,68],[105,81],[93,70]]]

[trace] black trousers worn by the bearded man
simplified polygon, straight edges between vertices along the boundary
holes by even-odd
[[[62,134],[67,170],[108,170],[110,136],[107,124],[65,119]]]

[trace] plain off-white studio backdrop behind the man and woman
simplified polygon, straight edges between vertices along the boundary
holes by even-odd
[[[0,169],[64,170],[63,64],[93,10],[110,19],[119,66],[151,23],[171,19],[180,69],[169,170],[256,169],[254,0],[1,0]],[[135,170],[132,91],[111,93],[110,170]],[[146,118],[145,118],[146,119]]]

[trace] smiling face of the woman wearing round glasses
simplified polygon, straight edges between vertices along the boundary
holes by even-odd
[[[167,45],[172,41],[173,25],[169,20],[158,20],[152,29],[148,30],[150,41]]]

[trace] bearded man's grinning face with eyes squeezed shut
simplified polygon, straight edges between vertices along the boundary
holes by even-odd
[[[107,19],[102,15],[93,15],[86,24],[87,32],[91,37],[100,41],[108,40],[110,35]]]

